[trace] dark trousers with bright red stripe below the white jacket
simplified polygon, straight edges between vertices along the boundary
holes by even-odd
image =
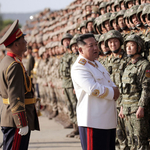
[[[95,129],[79,126],[83,150],[115,150],[116,129]]]

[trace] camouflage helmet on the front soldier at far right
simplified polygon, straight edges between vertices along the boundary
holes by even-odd
[[[127,38],[124,42],[125,49],[126,49],[126,44],[129,41],[136,42],[137,45],[141,47],[141,49],[144,49],[144,40],[139,35],[131,34],[131,35],[127,36]]]

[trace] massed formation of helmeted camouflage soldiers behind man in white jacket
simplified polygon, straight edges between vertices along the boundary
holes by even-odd
[[[79,135],[70,77],[78,57],[76,39],[93,33],[99,47],[97,59],[121,93],[116,149],[150,149],[150,0],[75,0],[60,11],[45,9],[28,20],[23,31],[35,60],[31,77],[40,99],[38,109],[49,119],[60,119],[65,128],[73,126],[67,137]],[[134,54],[131,47],[136,47]]]

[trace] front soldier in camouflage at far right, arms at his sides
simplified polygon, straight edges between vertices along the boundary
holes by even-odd
[[[125,48],[131,61],[122,76],[122,102],[119,116],[125,117],[132,150],[149,150],[150,63],[141,56],[143,40],[130,35]]]

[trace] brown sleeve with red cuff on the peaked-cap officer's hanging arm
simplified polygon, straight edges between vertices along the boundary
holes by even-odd
[[[19,63],[14,63],[7,72],[8,98],[14,122],[17,128],[27,126],[25,111],[25,88],[23,70]]]

